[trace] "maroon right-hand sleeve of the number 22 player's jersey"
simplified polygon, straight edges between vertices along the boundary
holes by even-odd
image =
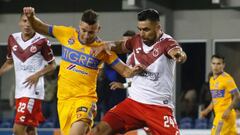
[[[43,58],[49,63],[51,61],[53,61],[55,58],[54,58],[54,55],[53,55],[53,51],[52,49],[50,48],[51,46],[51,43],[49,40],[45,40],[45,42],[43,42],[43,45],[42,45],[42,50],[41,50],[41,54],[43,56]]]

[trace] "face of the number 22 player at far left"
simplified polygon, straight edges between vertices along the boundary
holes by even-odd
[[[22,15],[19,21],[19,27],[21,29],[21,32],[24,35],[33,35],[34,34],[34,30],[31,27],[30,23],[28,22],[28,19],[25,15]]]

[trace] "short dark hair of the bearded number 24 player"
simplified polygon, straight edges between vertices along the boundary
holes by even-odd
[[[138,13],[138,21],[160,21],[159,19],[159,13],[155,9],[145,9]]]

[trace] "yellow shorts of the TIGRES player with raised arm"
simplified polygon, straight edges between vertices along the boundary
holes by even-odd
[[[96,99],[58,100],[58,116],[62,135],[69,135],[71,125],[76,121],[84,121],[93,125],[96,116]]]

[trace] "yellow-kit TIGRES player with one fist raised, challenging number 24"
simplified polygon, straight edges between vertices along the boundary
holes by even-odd
[[[139,73],[143,66],[126,66],[115,53],[91,55],[94,47],[102,44],[97,37],[100,30],[98,15],[86,10],[79,29],[49,25],[35,16],[34,8],[25,7],[33,29],[55,37],[62,44],[62,60],[58,78],[58,114],[63,135],[84,135],[93,124],[96,112],[96,79],[102,62],[111,65],[124,77]]]

